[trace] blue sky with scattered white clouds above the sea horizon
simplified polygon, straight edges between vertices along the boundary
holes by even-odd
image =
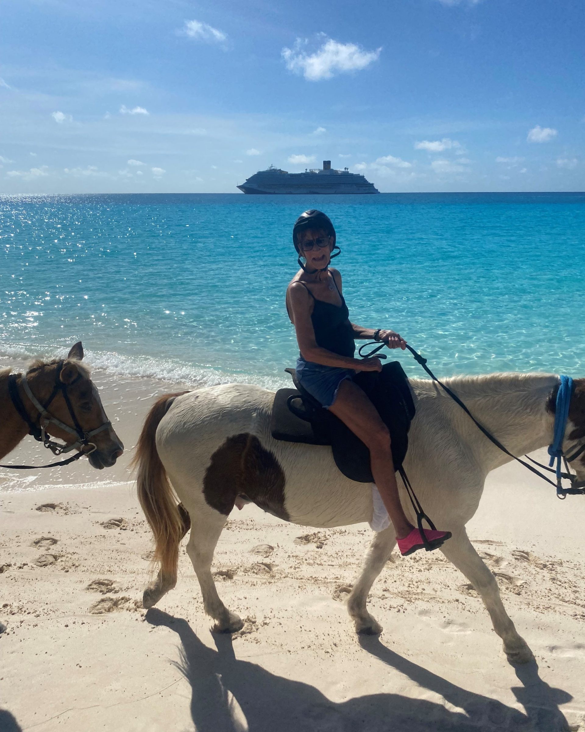
[[[585,190],[582,0],[3,0],[0,193]]]

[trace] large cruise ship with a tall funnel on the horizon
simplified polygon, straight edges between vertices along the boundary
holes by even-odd
[[[374,184],[348,168],[336,171],[331,160],[323,160],[322,168],[311,168],[304,173],[288,173],[273,165],[267,171],[254,173],[245,183],[238,185],[243,193],[303,193],[305,195],[331,195],[337,193],[380,193]]]

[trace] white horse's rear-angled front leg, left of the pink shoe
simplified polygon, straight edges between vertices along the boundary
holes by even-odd
[[[396,545],[394,533],[394,527],[390,524],[388,529],[375,535],[366,555],[366,563],[363,565],[361,575],[356,580],[350,597],[347,598],[347,610],[355,622],[355,632],[366,635],[379,635],[382,632],[380,623],[368,612],[366,602],[374,580],[382,572]]]

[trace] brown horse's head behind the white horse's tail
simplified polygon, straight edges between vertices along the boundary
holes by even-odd
[[[88,367],[81,363],[82,359],[83,346],[81,342],[75,343],[67,359],[37,362],[26,378],[31,392],[42,405],[50,400],[47,406],[50,416],[71,430],[45,420],[46,432],[67,445],[78,441],[80,433],[86,436],[89,447],[81,444],[78,449],[88,453],[91,466],[101,470],[116,463],[124,452],[124,445],[107,419],[97,387],[91,381]]]

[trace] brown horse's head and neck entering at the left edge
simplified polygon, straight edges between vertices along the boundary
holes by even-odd
[[[91,466],[98,470],[116,463],[124,445],[107,419],[89,369],[81,359],[83,346],[79,342],[72,346],[67,359],[37,360],[25,374],[11,376],[10,368],[0,370],[0,460],[29,431],[39,434],[44,430],[63,440],[69,449],[87,454]],[[10,395],[11,378],[15,398]],[[15,401],[20,402],[20,408]],[[48,437],[45,444],[59,447]]]

